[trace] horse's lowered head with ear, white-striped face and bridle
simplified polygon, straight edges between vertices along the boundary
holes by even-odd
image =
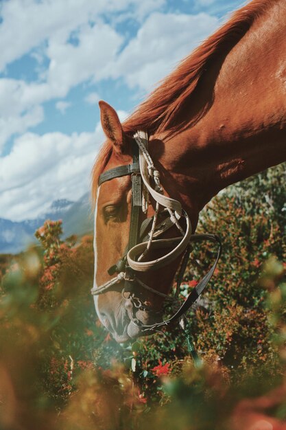
[[[93,293],[100,321],[124,342],[161,321],[164,295],[187,249],[191,227],[180,203],[160,189],[158,172],[147,165],[138,142],[123,132],[115,110],[105,102],[99,106],[107,141],[94,170],[98,185]],[[148,191],[149,205],[144,204]],[[152,225],[156,240],[146,252]]]

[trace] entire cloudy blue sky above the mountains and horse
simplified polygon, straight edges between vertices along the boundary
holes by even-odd
[[[104,135],[241,0],[0,0],[0,218],[91,188]]]

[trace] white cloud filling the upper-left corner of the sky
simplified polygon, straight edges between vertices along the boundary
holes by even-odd
[[[14,133],[40,122],[36,106],[65,98],[88,80],[108,76],[123,36],[102,22],[102,15],[142,20],[166,0],[13,0],[1,3],[0,70],[24,54],[38,62],[39,81],[0,79],[0,152]],[[15,34],[17,35],[15,38]],[[70,37],[77,43],[73,44]],[[45,61],[44,61],[45,60]],[[45,69],[45,64],[49,64]],[[27,112],[29,115],[27,117]],[[43,116],[42,116],[43,120]]]

